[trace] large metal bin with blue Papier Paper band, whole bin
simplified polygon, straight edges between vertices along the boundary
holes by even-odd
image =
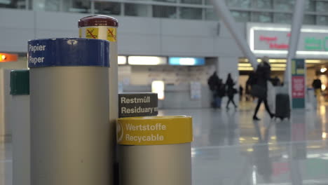
[[[33,40],[28,62],[31,184],[108,185],[109,42]]]

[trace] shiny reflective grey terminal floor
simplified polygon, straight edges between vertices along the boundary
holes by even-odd
[[[170,109],[193,116],[193,185],[328,184],[328,106],[271,120],[240,109]],[[12,145],[0,143],[0,185],[12,184]]]

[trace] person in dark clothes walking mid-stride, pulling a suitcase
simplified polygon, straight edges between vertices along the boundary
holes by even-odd
[[[264,106],[266,107],[266,111],[270,115],[270,118],[273,118],[275,115],[271,113],[270,108],[268,107],[268,99],[267,99],[267,91],[268,84],[267,82],[270,80],[271,74],[271,66],[268,62],[268,57],[263,57],[262,62],[257,66],[257,70],[255,71],[255,76],[252,79],[254,85],[252,86],[252,93],[257,94],[259,100],[257,100],[257,107],[255,107],[253,120],[259,121],[257,118],[257,112],[259,111],[259,107],[261,103],[264,102]]]

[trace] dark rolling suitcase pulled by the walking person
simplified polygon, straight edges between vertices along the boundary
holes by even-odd
[[[277,94],[275,96],[275,117],[283,120],[290,118],[290,104],[288,94]]]

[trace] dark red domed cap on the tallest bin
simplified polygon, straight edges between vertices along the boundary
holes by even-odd
[[[107,15],[91,15],[78,20],[78,27],[109,26],[118,27],[116,18]]]

